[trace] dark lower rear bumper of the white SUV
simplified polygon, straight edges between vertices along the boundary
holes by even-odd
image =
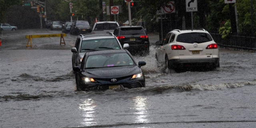
[[[201,58],[201,59],[172,59],[169,60],[173,68],[209,66],[218,67],[220,58]]]

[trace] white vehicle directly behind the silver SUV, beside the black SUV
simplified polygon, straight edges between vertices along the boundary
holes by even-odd
[[[104,22],[96,22],[92,28],[92,33],[97,32],[111,32],[113,33],[116,27],[118,27],[118,22],[113,21],[104,21]]]

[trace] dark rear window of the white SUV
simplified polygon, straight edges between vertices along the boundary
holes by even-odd
[[[191,33],[184,33],[179,34],[176,39],[177,42],[183,42],[183,43],[204,43],[212,41],[212,37],[208,33],[202,33],[202,32],[191,32]]]

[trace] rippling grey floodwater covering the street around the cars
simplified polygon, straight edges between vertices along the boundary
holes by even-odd
[[[142,60],[146,87],[76,91],[72,52],[76,36],[33,39],[17,30],[0,47],[0,128],[255,128],[256,53],[220,48],[220,68],[158,68],[156,46]],[[15,33],[14,37],[12,34]],[[32,33],[33,34],[33,33]],[[159,39],[149,34],[150,43]]]

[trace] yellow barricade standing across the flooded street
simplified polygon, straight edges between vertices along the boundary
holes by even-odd
[[[28,42],[27,42],[26,47],[32,47],[32,38],[47,38],[47,37],[60,37],[60,45],[61,44],[66,45],[65,40],[63,38],[64,36],[67,36],[67,34],[60,33],[60,34],[44,34],[44,35],[26,35],[26,39],[28,39],[28,42],[30,41],[30,45],[28,45]],[[63,39],[63,42],[62,42],[62,39]]]

